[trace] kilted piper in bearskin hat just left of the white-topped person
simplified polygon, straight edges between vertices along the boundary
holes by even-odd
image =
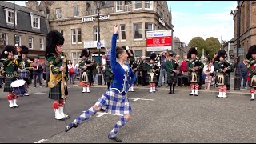
[[[187,54],[187,70],[190,76],[190,96],[198,96],[199,81],[202,73],[203,63],[200,58],[197,57],[198,50],[195,47],[191,47]]]

